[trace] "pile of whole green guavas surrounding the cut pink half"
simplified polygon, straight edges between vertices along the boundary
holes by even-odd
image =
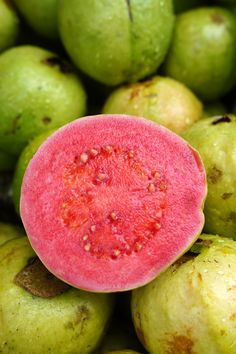
[[[235,63],[234,0],[0,0],[0,353],[236,353]],[[41,143],[102,113],[180,135],[208,183],[191,250],[117,294],[38,271],[19,214]]]

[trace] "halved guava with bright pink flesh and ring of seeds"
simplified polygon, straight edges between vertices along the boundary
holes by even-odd
[[[21,216],[46,267],[90,291],[143,285],[203,227],[198,154],[142,118],[94,116],[61,128],[31,160]]]

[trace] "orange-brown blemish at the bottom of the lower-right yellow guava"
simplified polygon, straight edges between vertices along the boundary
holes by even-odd
[[[173,335],[167,342],[167,354],[194,354],[193,341],[183,335]]]

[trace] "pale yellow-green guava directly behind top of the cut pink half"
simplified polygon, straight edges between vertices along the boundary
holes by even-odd
[[[145,117],[179,134],[201,118],[202,109],[200,100],[185,85],[154,76],[114,90],[103,113]]]

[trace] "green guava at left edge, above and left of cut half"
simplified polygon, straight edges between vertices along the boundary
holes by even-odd
[[[0,55],[0,150],[18,156],[34,136],[85,110],[80,79],[55,53],[29,45]]]

